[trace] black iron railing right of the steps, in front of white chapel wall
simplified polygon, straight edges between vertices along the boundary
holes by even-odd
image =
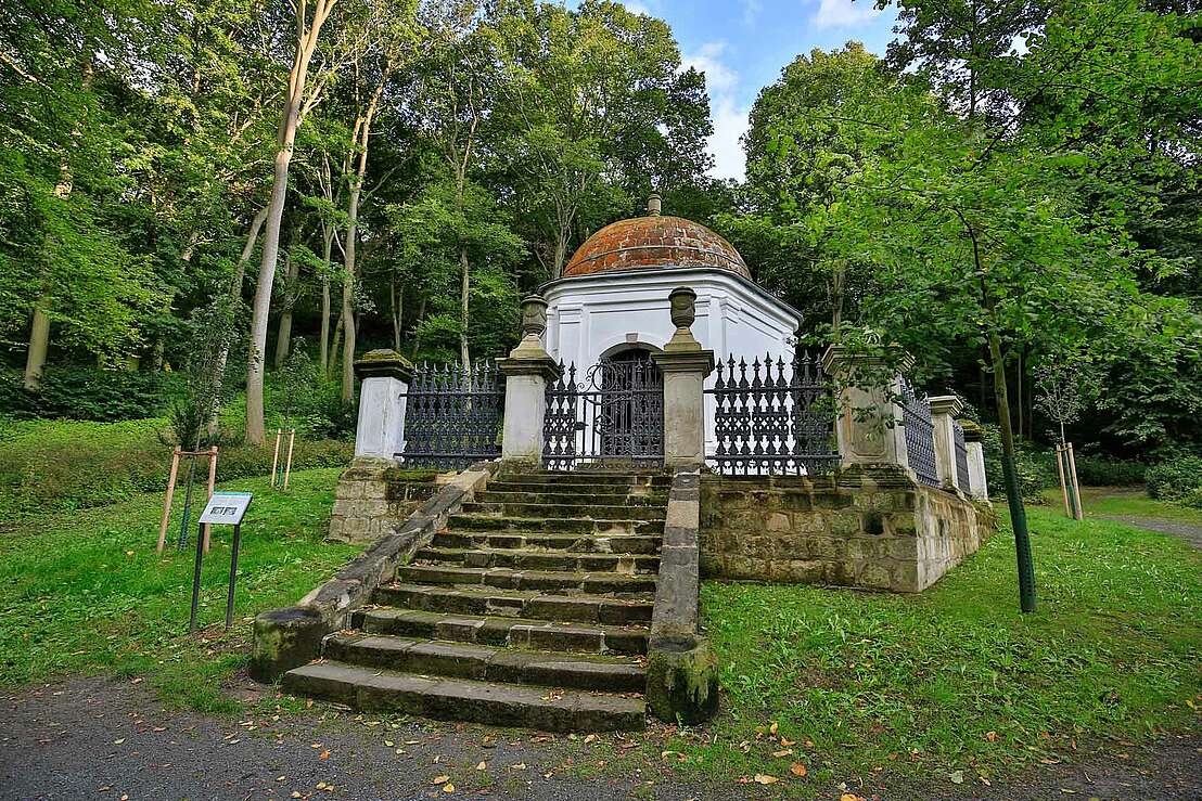
[[[820,476],[839,465],[834,402],[816,354],[736,361],[715,367],[716,448],[709,466],[726,476]]]

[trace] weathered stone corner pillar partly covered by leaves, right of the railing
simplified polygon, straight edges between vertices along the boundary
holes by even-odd
[[[900,349],[892,355],[851,353],[841,345],[822,355],[822,369],[839,393],[834,428],[843,467],[910,468],[902,407],[893,399],[902,394],[902,373],[914,366],[914,358]]]

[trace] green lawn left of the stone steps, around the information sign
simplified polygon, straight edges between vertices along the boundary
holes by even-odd
[[[323,543],[338,470],[292,474],[287,492],[267,478],[224,484],[250,490],[243,525],[234,626],[224,632],[230,527],[215,527],[201,576],[203,636],[188,634],[195,548],[177,551],[183,491],[171,545],[155,555],[162,495],[0,528],[0,682],[69,673],[147,675],[163,697],[203,711],[237,704],[221,683],[249,656],[258,611],[294,603],[356,549]],[[194,515],[203,506],[203,486]],[[195,518],[194,518],[195,519]],[[194,528],[195,536],[195,528]],[[195,543],[195,539],[191,540]]]

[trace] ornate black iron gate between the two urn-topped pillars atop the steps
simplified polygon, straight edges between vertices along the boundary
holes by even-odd
[[[547,388],[543,465],[664,464],[664,376],[642,352],[605,359],[577,382],[576,365]]]

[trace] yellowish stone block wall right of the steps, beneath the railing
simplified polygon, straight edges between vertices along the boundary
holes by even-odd
[[[701,494],[706,578],[921,592],[976,552],[993,513],[898,467],[832,476],[708,476]]]

